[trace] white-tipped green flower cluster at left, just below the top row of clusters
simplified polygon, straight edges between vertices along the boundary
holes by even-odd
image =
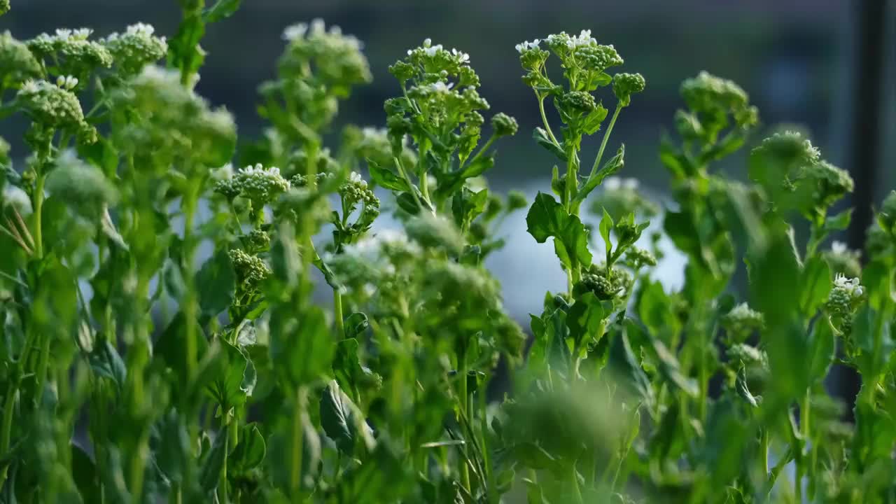
[[[69,82],[64,80],[63,85]],[[96,129],[84,119],[81,102],[65,87],[47,81],[25,81],[16,102],[39,126],[76,134],[83,143],[96,140]]]

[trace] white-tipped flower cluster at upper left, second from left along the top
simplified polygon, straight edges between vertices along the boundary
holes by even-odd
[[[28,48],[47,65],[55,69],[55,74],[76,75],[86,82],[86,77],[99,68],[112,66],[112,53],[102,43],[89,40],[93,30],[56,30],[49,35],[41,33],[28,40]]]

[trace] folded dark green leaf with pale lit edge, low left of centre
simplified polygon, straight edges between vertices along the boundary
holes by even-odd
[[[358,445],[368,451],[374,447],[373,431],[358,406],[342,392],[336,380],[330,380],[323,391],[321,426],[327,436],[348,456],[355,453]]]

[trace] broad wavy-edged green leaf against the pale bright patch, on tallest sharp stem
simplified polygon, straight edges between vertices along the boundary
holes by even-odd
[[[567,270],[591,264],[588,230],[578,216],[566,213],[553,196],[539,192],[526,215],[526,223],[529,234],[538,243],[554,237],[556,255]]]

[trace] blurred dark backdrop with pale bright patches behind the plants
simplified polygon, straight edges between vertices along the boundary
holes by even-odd
[[[235,16],[212,25],[203,39],[209,54],[198,85],[203,96],[235,114],[242,138],[263,127],[255,114],[256,88],[273,75],[282,30],[315,17],[363,40],[375,77],[345,103],[337,132],[349,122],[383,125],[383,100],[399,92],[387,67],[423,39],[470,53],[491,112],[506,112],[521,125],[519,135],[500,143],[488,173],[499,192],[518,188],[531,197],[548,190],[554,164],[531,141],[538,107],[521,83],[514,45],[582,29],[615,45],[626,62],[620,71],[647,79],[646,91],[620,116],[608,148],[626,144],[621,175],[639,178],[655,198],[662,200],[668,185],[657,157],[659,135],[671,129],[679,84],[701,70],[743,86],[760,109],[763,130],[787,123],[808,131],[826,159],[856,178],[856,204],[870,208],[896,187],[896,9],[887,0],[244,0]],[[178,21],[174,0],[13,0],[0,30],[28,39],[58,27],[89,26],[105,36],[149,22],[170,37]],[[614,99],[604,91],[609,105]],[[14,138],[9,130],[15,127],[4,126],[0,135]],[[587,143],[582,159],[591,158],[598,143]],[[22,159],[25,152],[19,146],[13,154]],[[744,155],[722,169],[744,178]],[[868,223],[852,236],[854,246]],[[383,219],[382,225],[390,222]],[[651,229],[660,226],[655,222]],[[523,212],[504,222],[507,247],[490,263],[504,282],[508,308],[521,320],[540,310],[546,290],[565,287],[553,247],[538,245],[525,229]],[[680,258],[670,255],[659,276],[674,285],[681,268]]]

